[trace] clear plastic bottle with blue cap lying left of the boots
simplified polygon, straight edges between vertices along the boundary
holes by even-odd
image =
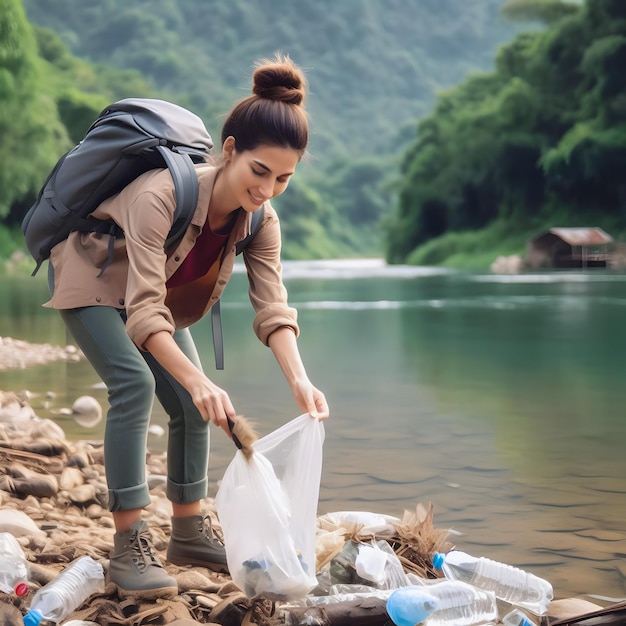
[[[102,565],[90,556],[72,561],[56,578],[35,593],[25,626],[38,626],[42,620],[58,623],[96,592],[104,591]]]

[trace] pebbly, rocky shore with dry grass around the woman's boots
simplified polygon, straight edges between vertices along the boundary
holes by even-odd
[[[0,339],[0,370],[77,358],[80,354],[71,347]],[[249,598],[227,575],[167,563],[170,505],[165,497],[165,461],[165,454],[148,454],[146,459],[152,503],[145,519],[168,572],[177,579],[178,597],[153,601],[124,599],[118,596],[114,585],[107,584],[103,593],[92,596],[68,617],[67,626],[391,624],[384,601],[376,597],[374,588],[369,601],[315,609],[294,607],[263,597]],[[27,393],[0,391],[0,532],[10,532],[18,539],[30,566],[30,591],[26,596],[0,593],[0,626],[22,626],[22,616],[33,593],[78,557],[91,556],[107,571],[114,531],[106,499],[101,442],[69,442],[55,422],[36,415]],[[220,534],[213,501],[207,498],[204,505],[214,530]],[[440,573],[432,568],[432,554],[453,547],[448,531],[435,527],[432,505],[417,504],[414,511],[405,511],[381,530],[372,530],[358,521],[338,521],[331,514],[319,519],[317,533],[318,544],[326,546],[316,555],[318,572],[327,571],[331,561],[338,560],[342,547],[384,541],[407,575],[435,578]],[[328,537],[334,541],[326,541]],[[345,565],[346,571],[354,574],[354,565]],[[567,619],[602,608],[578,599],[555,601],[542,624],[573,624]],[[535,621],[539,623],[538,618]]]

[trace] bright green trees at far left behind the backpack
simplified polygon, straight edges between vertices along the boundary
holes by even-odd
[[[29,24],[20,0],[0,0],[0,9],[0,218],[13,226],[102,108],[123,90],[151,88],[136,71],[71,55],[52,31]]]

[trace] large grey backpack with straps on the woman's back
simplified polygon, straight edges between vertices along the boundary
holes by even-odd
[[[194,164],[208,160],[213,140],[202,120],[187,109],[164,100],[127,98],[108,106],[90,126],[82,141],[63,155],[52,169],[36,202],[22,221],[26,246],[37,265],[50,257],[54,246],[72,231],[109,234],[109,260],[115,237],[123,236],[113,222],[91,213],[135,178],[167,167],[176,191],[174,223],[165,242],[182,237],[198,202]],[[237,254],[249,243],[263,219],[253,214],[251,234],[237,244]],[[219,302],[213,306],[215,360],[223,369]]]

